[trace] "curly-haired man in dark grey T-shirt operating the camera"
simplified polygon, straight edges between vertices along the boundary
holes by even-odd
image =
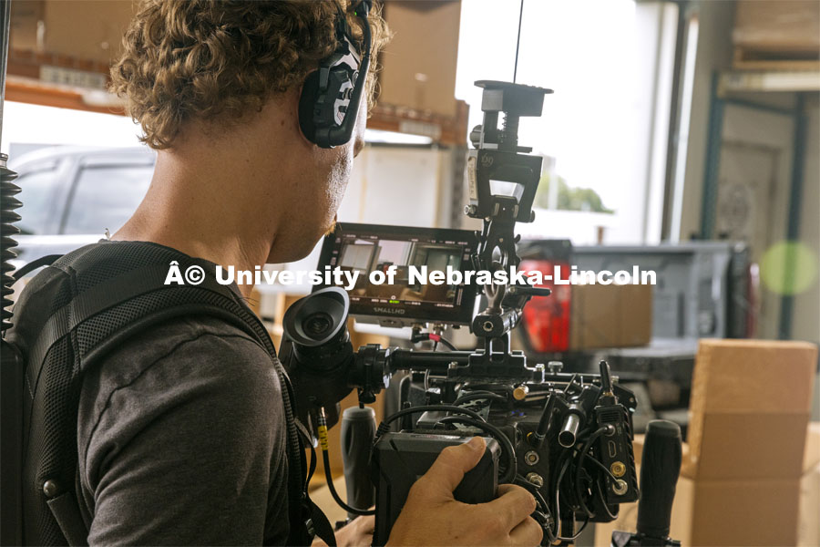
[[[137,212],[98,244],[159,244],[241,270],[309,253],[333,228],[374,82],[364,75],[353,139],[320,148],[305,138],[302,84],[336,49],[338,17],[362,47],[364,23],[346,3],[143,0],[112,88],[158,158]],[[377,13],[368,24],[375,57],[386,27]],[[173,320],[86,374],[77,447],[90,544],[297,541],[283,387],[248,335],[216,317]],[[526,490],[506,485],[483,505],[453,500],[483,452],[480,439],[447,449],[417,482],[391,543],[540,542]],[[337,541],[370,544],[372,526],[357,519]]]

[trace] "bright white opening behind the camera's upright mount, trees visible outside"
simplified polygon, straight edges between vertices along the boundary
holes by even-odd
[[[461,4],[456,97],[470,105],[469,129],[482,122],[475,80],[513,79],[519,5]],[[544,164],[535,222],[518,233],[576,244],[660,237],[665,158],[652,154],[667,144],[676,17],[662,2],[523,0],[517,82],[555,93],[541,118],[521,119],[519,144]]]

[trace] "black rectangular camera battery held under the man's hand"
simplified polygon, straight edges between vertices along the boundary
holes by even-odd
[[[439,433],[385,433],[373,449],[373,479],[376,489],[374,545],[384,545],[393,523],[405,506],[407,494],[446,447],[472,439]],[[475,468],[466,472],[453,492],[457,501],[485,503],[496,498],[498,458],[501,448],[496,439],[485,438],[487,449]]]

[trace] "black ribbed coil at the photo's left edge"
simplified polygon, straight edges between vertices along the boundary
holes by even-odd
[[[20,193],[20,187],[14,182],[17,178],[15,171],[8,169],[5,162],[8,156],[0,154],[0,259],[2,259],[2,266],[0,266],[0,283],[2,283],[2,313],[0,313],[0,331],[5,335],[6,329],[11,327],[12,311],[10,309],[13,301],[11,295],[14,294],[12,285],[15,283],[15,278],[12,276],[15,267],[11,261],[15,259],[15,235],[20,233],[19,228],[15,226],[15,222],[20,220],[20,215],[15,212],[15,209],[20,208],[23,203],[15,198]]]

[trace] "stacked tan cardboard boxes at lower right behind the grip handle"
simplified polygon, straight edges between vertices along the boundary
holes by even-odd
[[[796,545],[817,534],[810,498],[820,496],[813,471],[820,473],[820,439],[815,427],[806,435],[816,366],[811,344],[701,341],[690,442],[672,507],[674,539]],[[641,448],[638,439],[636,453]],[[622,507],[618,521],[596,527],[596,545],[609,545],[612,530],[634,531],[636,515],[634,504]]]

